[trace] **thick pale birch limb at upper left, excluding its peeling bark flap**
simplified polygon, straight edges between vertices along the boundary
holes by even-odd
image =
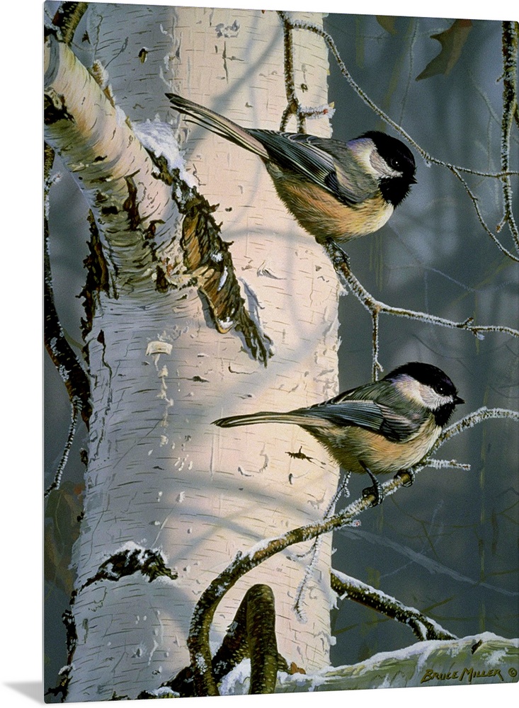
[[[169,188],[125,115],[113,102],[106,76],[98,80],[54,35],[45,42],[45,139],[103,224],[113,278],[126,287],[149,280],[156,241],[167,239],[178,211]],[[100,81],[101,83],[98,83]]]

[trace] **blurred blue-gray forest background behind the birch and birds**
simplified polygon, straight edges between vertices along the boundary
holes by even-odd
[[[47,3],[47,8],[55,5]],[[447,19],[394,18],[383,28],[372,16],[326,18],[326,28],[355,80],[421,147],[452,164],[497,171],[501,23],[474,21],[450,73],[416,81],[440,51],[439,42],[430,35],[450,25],[452,20]],[[333,63],[329,99],[336,108],[334,137],[349,139],[365,130],[386,130]],[[513,135],[511,152],[517,170],[516,127]],[[452,173],[426,166],[418,156],[417,164],[418,184],[389,224],[348,244],[355,275],[388,304],[455,321],[473,316],[478,324],[517,327],[517,263],[503,256],[484,232]],[[495,231],[503,214],[498,181],[467,179]],[[55,296],[67,336],[80,347],[83,313],[76,296],[84,284],[86,205],[66,173],[59,189],[53,190],[53,199]],[[60,215],[66,215],[66,222]],[[513,248],[506,229],[502,240]],[[442,367],[467,401],[455,418],[483,405],[518,409],[517,340],[489,333],[479,341],[464,331],[388,316],[380,324],[380,361],[385,370],[415,359]],[[341,342],[341,388],[345,389],[371,375],[370,316],[353,295],[341,299]],[[68,426],[67,394],[45,358],[49,479]],[[511,421],[489,421],[445,445],[439,457],[468,462],[471,470],[424,470],[411,489],[365,513],[359,528],[335,535],[333,566],[417,607],[458,636],[483,630],[518,636],[518,427]],[[54,533],[53,548],[59,545],[55,536],[59,525],[57,540],[62,549],[67,548],[67,519],[78,513],[74,499],[83,474],[79,449],[85,444],[85,431],[80,428],[64,481],[68,493],[45,520],[46,529]],[[365,480],[354,479],[352,495],[363,486]],[[57,670],[66,661],[60,617],[67,607],[69,587],[58,579],[61,571],[47,562],[45,687],[55,685]],[[335,666],[416,641],[408,628],[372,610],[348,601],[339,601],[337,607],[332,611]]]

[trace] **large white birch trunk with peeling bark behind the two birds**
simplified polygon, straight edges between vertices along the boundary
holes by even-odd
[[[299,428],[211,426],[222,414],[294,409],[336,394],[338,284],[261,161],[186,124],[164,96],[173,90],[246,127],[278,128],[286,105],[278,16],[102,4],[87,16],[101,62],[96,80],[52,36],[45,65],[53,110],[45,139],[89,202],[91,249],[101,253],[86,286],[93,413],[74,559],[72,701],[135,698],[187,666],[190,619],[208,583],[236,552],[322,518],[338,475]],[[324,104],[324,45],[310,33],[294,40],[304,102]],[[328,120],[313,120],[309,132],[330,135]],[[219,205],[215,220],[232,244],[246,309],[273,353],[266,366],[243,328],[218,319],[204,273],[186,268],[186,215],[156,162],[162,154],[171,168],[173,133],[186,152],[190,175],[176,161],[184,181]],[[220,289],[228,277],[224,268]],[[287,455],[301,446],[310,460]],[[322,539],[311,573],[307,544],[241,578],[218,607],[212,646],[246,590],[267,583],[280,653],[307,672],[327,666],[330,544]],[[144,572],[150,553],[171,573]]]

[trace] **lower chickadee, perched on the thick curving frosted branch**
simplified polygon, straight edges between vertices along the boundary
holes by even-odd
[[[213,421],[220,428],[255,423],[292,423],[324,445],[341,467],[367,472],[375,504],[382,489],[375,474],[409,469],[427,455],[457,404],[455,385],[438,367],[409,362],[380,381],[329,401],[288,413],[251,413]]]

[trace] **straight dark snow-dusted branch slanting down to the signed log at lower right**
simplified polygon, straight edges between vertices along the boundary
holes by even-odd
[[[399,600],[382,593],[382,590],[372,588],[372,586],[362,583],[357,578],[347,576],[345,573],[336,570],[331,571],[331,588],[341,599],[354,600],[356,603],[381,612],[386,617],[396,619],[397,622],[407,624],[420,641],[426,641],[426,639],[457,639],[455,634],[447,632],[438,622],[426,617],[415,607],[404,605]]]

